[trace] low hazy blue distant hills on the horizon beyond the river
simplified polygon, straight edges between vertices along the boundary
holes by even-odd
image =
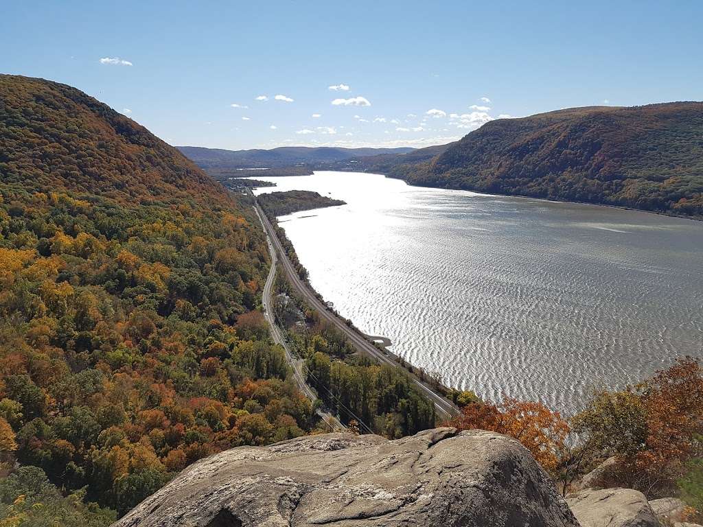
[[[221,150],[198,146],[176,147],[203,169],[247,169],[290,167],[366,157],[378,154],[404,154],[412,148],[309,148],[283,146],[272,150]]]

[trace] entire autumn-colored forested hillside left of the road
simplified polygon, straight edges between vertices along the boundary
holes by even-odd
[[[314,427],[254,311],[255,221],[131,119],[0,76],[3,525],[106,525],[201,457]]]

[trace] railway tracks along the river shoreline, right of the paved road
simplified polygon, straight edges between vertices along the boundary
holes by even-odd
[[[259,206],[258,202],[256,203],[254,208],[256,209],[257,214],[259,215],[259,220],[261,220],[262,224],[264,225],[264,230],[266,230],[269,245],[271,241],[273,241],[273,245],[276,247],[276,251],[274,252],[278,252],[278,254],[280,254],[281,264],[283,265],[283,268],[285,268],[286,273],[288,273],[292,285],[294,285],[295,288],[299,290],[300,294],[303,295],[305,300],[311,306],[316,308],[318,313],[320,313],[321,317],[325,318],[325,320],[328,320],[328,322],[335,325],[340,331],[347,335],[347,337],[349,337],[349,340],[351,340],[354,346],[356,346],[356,349],[362,351],[363,353],[367,353],[382,364],[387,364],[393,367],[401,367],[401,365],[399,365],[396,360],[386,356],[385,353],[383,353],[376,346],[374,346],[372,342],[368,341],[361,334],[359,334],[359,332],[356,332],[356,330],[354,330],[352,327],[349,327],[347,323],[344,322],[344,320],[339,318],[334,313],[330,312],[328,306],[326,306],[324,302],[317,297],[311,287],[309,287],[305,282],[303,282],[303,280],[301,280],[298,276],[298,273],[297,271],[295,271],[295,268],[290,262],[290,259],[288,259],[285,250],[283,250],[283,245],[281,245],[280,240],[278,240],[278,236],[276,236],[276,232],[273,230],[271,222],[266,217],[266,214],[264,214],[264,211]],[[430,386],[427,386],[427,384],[425,384],[424,382],[421,382],[420,379],[414,377],[413,381],[420,387],[420,389],[423,390],[425,395],[430,398],[430,401],[434,403],[434,407],[437,408],[437,411],[439,413],[441,413],[445,417],[450,418],[459,413],[459,409],[456,405],[454,405],[453,403],[451,403],[451,401],[448,401],[446,398],[434,391]]]

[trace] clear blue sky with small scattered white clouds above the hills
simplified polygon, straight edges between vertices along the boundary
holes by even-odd
[[[172,145],[422,147],[491,119],[703,100],[703,1],[0,0],[0,72]]]

